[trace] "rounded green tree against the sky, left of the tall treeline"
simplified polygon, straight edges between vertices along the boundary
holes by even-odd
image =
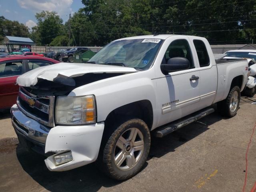
[[[62,25],[63,20],[56,12],[42,11],[36,13],[37,28],[36,32],[40,35],[40,44],[50,44],[52,40],[65,33]]]

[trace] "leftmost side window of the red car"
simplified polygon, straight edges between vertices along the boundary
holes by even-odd
[[[22,61],[8,61],[0,64],[0,78],[21,75]]]

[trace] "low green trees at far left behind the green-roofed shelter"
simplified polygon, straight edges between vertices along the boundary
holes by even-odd
[[[0,16],[0,42],[5,36],[28,37],[28,27],[18,21],[11,21]]]

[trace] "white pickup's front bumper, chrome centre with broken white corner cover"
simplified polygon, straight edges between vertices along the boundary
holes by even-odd
[[[33,148],[41,147],[50,171],[66,171],[94,162],[98,157],[104,123],[82,126],[46,127],[23,114],[17,105],[11,108],[12,124],[19,140],[26,140]],[[24,140],[22,143],[24,143]],[[33,149],[32,149],[33,150]],[[73,160],[56,166],[54,156],[70,151]],[[53,153],[54,155],[52,155]]]

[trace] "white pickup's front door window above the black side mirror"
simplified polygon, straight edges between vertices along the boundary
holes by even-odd
[[[171,42],[171,44],[168,46],[164,54],[162,64],[167,64],[168,60],[174,57],[183,57],[188,59],[190,62],[190,69],[195,68],[190,46],[187,40],[180,39],[180,40],[174,40],[173,42]]]

